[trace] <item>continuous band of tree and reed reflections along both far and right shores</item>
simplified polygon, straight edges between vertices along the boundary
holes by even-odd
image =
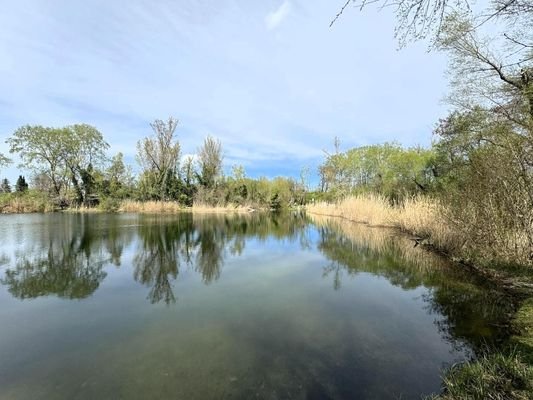
[[[343,279],[363,272],[405,290],[424,286],[430,288],[424,299],[427,311],[445,316],[435,323],[457,346],[474,337],[482,346],[506,336],[501,326],[512,305],[495,288],[480,286],[467,272],[413,248],[393,231],[319,217],[313,222],[316,247],[329,260],[323,276],[335,290],[342,290]],[[309,221],[296,214],[52,216],[28,227],[14,263],[7,255],[0,257],[7,265],[0,282],[20,299],[86,298],[105,279],[105,266],[119,267],[131,247],[133,278],[149,288],[149,301],[172,304],[177,299],[174,282],[183,268],[196,271],[209,285],[220,278],[228,254],[242,255],[248,240],[275,237],[311,249],[308,228]]]

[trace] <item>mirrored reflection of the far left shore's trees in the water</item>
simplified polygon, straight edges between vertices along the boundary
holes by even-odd
[[[240,256],[247,239],[299,239],[305,243],[301,216],[254,215],[129,216],[59,215],[28,225],[15,265],[0,282],[20,299],[57,295],[82,299],[106,277],[104,267],[119,267],[126,247],[135,242],[133,277],[150,288],[152,303],[176,302],[173,281],[183,267],[198,272],[205,284],[219,279],[226,253]],[[136,239],[136,240],[135,240]],[[138,242],[138,243],[137,243]]]

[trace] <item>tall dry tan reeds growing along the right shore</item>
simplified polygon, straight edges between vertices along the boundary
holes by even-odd
[[[451,208],[431,197],[408,198],[392,205],[384,196],[371,194],[310,204],[306,209],[310,214],[396,227],[473,264],[533,264],[526,231],[505,225],[505,218],[499,222],[480,220],[477,209],[468,205]]]

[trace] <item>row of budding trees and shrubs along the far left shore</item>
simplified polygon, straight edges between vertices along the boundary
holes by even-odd
[[[220,140],[208,136],[196,157],[182,158],[176,135],[178,120],[155,120],[152,135],[137,143],[138,174],[126,165],[122,153],[107,155],[109,144],[95,127],[77,124],[62,128],[22,126],[7,139],[10,152],[31,171],[31,188],[45,194],[57,207],[116,209],[125,199],[173,201],[183,206],[227,204],[274,208],[302,204],[305,187],[292,178],[252,179],[236,165],[223,173]],[[0,164],[10,163],[0,156]],[[0,166],[1,166],[0,165]],[[29,185],[19,178],[16,192]],[[1,192],[10,193],[4,179]]]

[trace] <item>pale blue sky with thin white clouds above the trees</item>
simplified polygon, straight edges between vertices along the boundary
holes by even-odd
[[[226,171],[314,174],[333,149],[429,145],[447,90],[427,43],[398,49],[392,10],[344,0],[17,0],[0,13],[0,152],[21,125],[87,123],[135,164],[154,119],[182,154],[221,140]],[[14,180],[14,163],[0,175]]]

